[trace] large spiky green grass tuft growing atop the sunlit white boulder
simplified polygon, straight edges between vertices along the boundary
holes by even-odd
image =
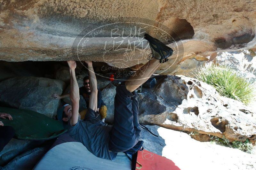
[[[238,100],[246,105],[255,99],[252,82],[231,67],[208,63],[193,74],[198,80],[214,87],[221,96]]]

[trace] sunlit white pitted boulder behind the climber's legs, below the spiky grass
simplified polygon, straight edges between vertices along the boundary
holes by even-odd
[[[255,111],[242,103],[221,97],[204,82],[185,76],[167,76],[159,79],[154,89],[139,93],[139,121],[164,128],[198,132],[218,136],[230,141],[255,144]],[[112,88],[113,87],[113,88]],[[114,118],[115,86],[103,89],[103,100],[108,106],[107,122]],[[107,95],[107,94],[113,94]],[[198,140],[203,140],[201,135]]]

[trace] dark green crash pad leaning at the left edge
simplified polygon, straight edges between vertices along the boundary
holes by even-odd
[[[12,116],[12,120],[0,118],[0,121],[5,126],[12,126],[15,129],[16,139],[47,140],[67,131],[59,121],[32,110],[0,107],[0,112]]]

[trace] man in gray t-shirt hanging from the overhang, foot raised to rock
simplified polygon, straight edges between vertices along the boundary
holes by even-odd
[[[97,81],[91,61],[84,61],[89,72],[91,95],[84,120],[78,121],[79,88],[76,81],[75,61],[68,61],[70,70],[70,99],[72,106],[64,110],[68,117],[69,135],[81,142],[97,157],[115,160],[117,152],[133,148],[140,139],[139,102],[135,90],[140,87],[156,71],[162,62],[168,61],[172,49],[148,34],[152,53],[144,69],[137,71],[136,76],[130,77],[116,87],[114,124],[110,126],[95,117],[97,114]],[[159,62],[160,60],[160,62]],[[140,74],[143,70],[143,74]]]

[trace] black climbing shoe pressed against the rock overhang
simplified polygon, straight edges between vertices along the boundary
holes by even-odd
[[[145,39],[148,40],[150,49],[152,51],[152,53],[149,54],[150,56],[148,57],[148,60],[154,57],[155,59],[160,60],[160,63],[167,62],[168,57],[170,57],[173,53],[172,48],[164,45],[164,43],[148,34],[145,34]]]

